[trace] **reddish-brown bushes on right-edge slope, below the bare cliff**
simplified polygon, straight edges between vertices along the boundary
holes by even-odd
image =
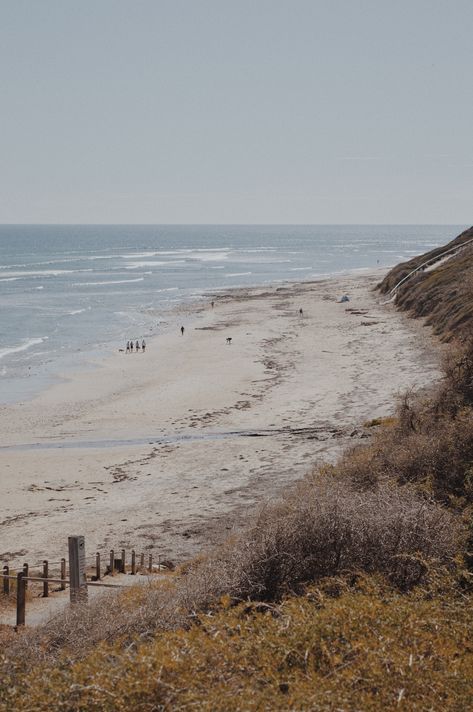
[[[338,471],[361,488],[413,483],[463,512],[473,506],[473,341],[452,348],[444,378],[427,396],[406,393],[397,419],[345,454]]]

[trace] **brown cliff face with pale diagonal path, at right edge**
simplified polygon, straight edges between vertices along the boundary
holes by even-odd
[[[462,340],[472,333],[473,243],[445,261],[439,257],[451,247],[469,240],[473,240],[473,227],[447,245],[397,265],[378,285],[378,289],[387,294],[412,270],[431,262],[427,269],[414,274],[398,288],[396,305],[412,316],[426,317],[426,323],[443,341]]]

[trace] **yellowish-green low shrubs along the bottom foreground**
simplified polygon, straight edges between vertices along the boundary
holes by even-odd
[[[9,672],[0,709],[463,711],[471,602],[447,579],[401,595],[365,577],[324,580],[278,605],[224,600],[190,630]]]

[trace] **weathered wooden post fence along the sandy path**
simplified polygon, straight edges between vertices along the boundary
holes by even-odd
[[[104,576],[115,576],[117,573],[129,574],[151,574],[156,569],[161,568],[160,558],[157,557],[157,567],[153,565],[153,554],[140,553],[137,555],[134,549],[127,552],[125,549],[117,552],[110,549],[107,564],[103,565],[103,557],[99,551],[92,557],[85,556],[85,541],[82,536],[73,536],[68,539],[69,546],[69,561],[68,565],[65,558],[60,561],[48,561],[45,559],[41,564],[36,564],[30,567],[28,563],[24,563],[20,570],[10,569],[8,564],[3,566],[3,571],[0,574],[0,579],[3,580],[3,595],[16,597],[16,625],[25,625],[26,616],[26,592],[28,583],[42,583],[42,598],[48,598],[51,591],[51,584],[56,584],[59,588],[54,591],[65,591],[66,587],[70,590],[71,603],[77,603],[87,599],[87,588],[89,586],[99,586],[103,588],[123,588],[118,583],[104,583]],[[56,567],[56,568],[54,568]],[[30,569],[42,569],[39,575],[31,575]],[[58,571],[58,576],[51,576],[51,571]],[[13,585],[12,585],[13,584]]]

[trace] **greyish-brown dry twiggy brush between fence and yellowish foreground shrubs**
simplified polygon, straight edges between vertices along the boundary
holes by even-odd
[[[327,576],[379,573],[407,591],[453,566],[461,536],[455,516],[408,489],[383,483],[360,492],[339,477],[320,475],[266,507],[253,528],[180,576],[67,609],[20,636],[9,658],[37,664],[66,653],[76,660],[99,641],[187,627],[222,596],[272,603]]]

